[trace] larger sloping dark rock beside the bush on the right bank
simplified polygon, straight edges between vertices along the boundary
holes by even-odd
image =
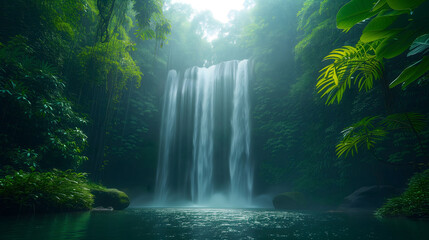
[[[366,186],[354,191],[344,198],[340,209],[367,209],[379,208],[390,197],[398,194],[398,189],[392,186]]]

